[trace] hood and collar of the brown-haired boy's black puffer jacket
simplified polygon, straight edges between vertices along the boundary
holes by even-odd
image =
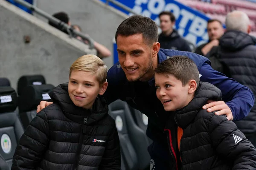
[[[222,99],[221,90],[208,82],[200,82],[195,97],[184,108],[175,111],[175,119],[179,127],[185,129],[209,99]]]

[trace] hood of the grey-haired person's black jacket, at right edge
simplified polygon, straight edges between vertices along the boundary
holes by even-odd
[[[255,45],[256,38],[241,31],[227,31],[220,39],[221,48],[228,51],[237,51],[248,45]]]

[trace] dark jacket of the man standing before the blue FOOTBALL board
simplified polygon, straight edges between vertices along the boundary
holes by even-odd
[[[158,42],[160,43],[160,48],[179,51],[192,51],[192,49],[189,47],[189,42],[180,37],[177,30],[173,30],[172,34],[169,36],[161,33],[158,37]]]

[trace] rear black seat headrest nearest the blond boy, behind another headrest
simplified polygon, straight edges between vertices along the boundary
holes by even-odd
[[[21,94],[23,91],[23,88],[25,88],[28,85],[44,85],[46,84],[44,76],[42,75],[27,75],[27,76],[22,76],[18,80],[18,85],[17,85],[17,93],[18,95]]]

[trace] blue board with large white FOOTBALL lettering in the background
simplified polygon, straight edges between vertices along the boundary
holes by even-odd
[[[106,2],[106,0],[102,0]],[[131,8],[137,14],[150,17],[157,25],[160,25],[158,14],[162,11],[171,11],[176,18],[175,29],[189,42],[198,46],[208,41],[207,17],[205,14],[196,11],[175,0],[117,0]],[[110,6],[119,9],[125,14],[132,15],[128,11],[109,2]]]

